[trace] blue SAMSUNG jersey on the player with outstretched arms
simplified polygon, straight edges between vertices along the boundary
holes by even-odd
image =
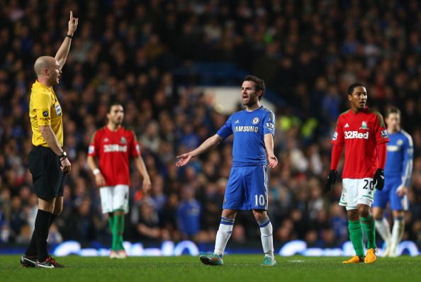
[[[275,115],[261,106],[257,110],[233,113],[216,134],[234,135],[232,167],[266,165],[264,135],[275,134]]]

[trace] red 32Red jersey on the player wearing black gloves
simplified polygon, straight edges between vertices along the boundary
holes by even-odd
[[[378,168],[376,145],[384,142],[389,137],[380,113],[366,108],[339,115],[332,143],[345,148],[342,179],[373,177]]]

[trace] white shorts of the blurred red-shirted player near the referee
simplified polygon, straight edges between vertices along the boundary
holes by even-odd
[[[102,213],[124,210],[128,213],[128,185],[104,186],[99,188]]]

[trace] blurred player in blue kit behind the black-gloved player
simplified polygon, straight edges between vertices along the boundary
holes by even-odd
[[[400,111],[391,108],[386,113],[390,142],[387,145],[384,188],[374,196],[373,215],[376,229],[383,238],[386,249],[383,256],[397,256],[397,248],[405,230],[405,211],[408,210],[408,186],[412,174],[413,144],[411,136],[400,128]],[[383,210],[390,204],[393,215],[391,232]]]

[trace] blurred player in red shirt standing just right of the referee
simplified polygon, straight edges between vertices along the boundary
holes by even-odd
[[[123,115],[123,106],[119,103],[113,103],[110,106],[107,113],[108,124],[96,130],[88,153],[88,165],[100,189],[102,212],[109,215],[109,224],[113,234],[111,259],[126,257],[123,231],[124,216],[128,213],[130,157],[133,157],[137,170],[143,177],[143,190],[149,190],[151,185],[135,134],[132,130],[121,126]],[[98,164],[96,159],[98,159]]]

